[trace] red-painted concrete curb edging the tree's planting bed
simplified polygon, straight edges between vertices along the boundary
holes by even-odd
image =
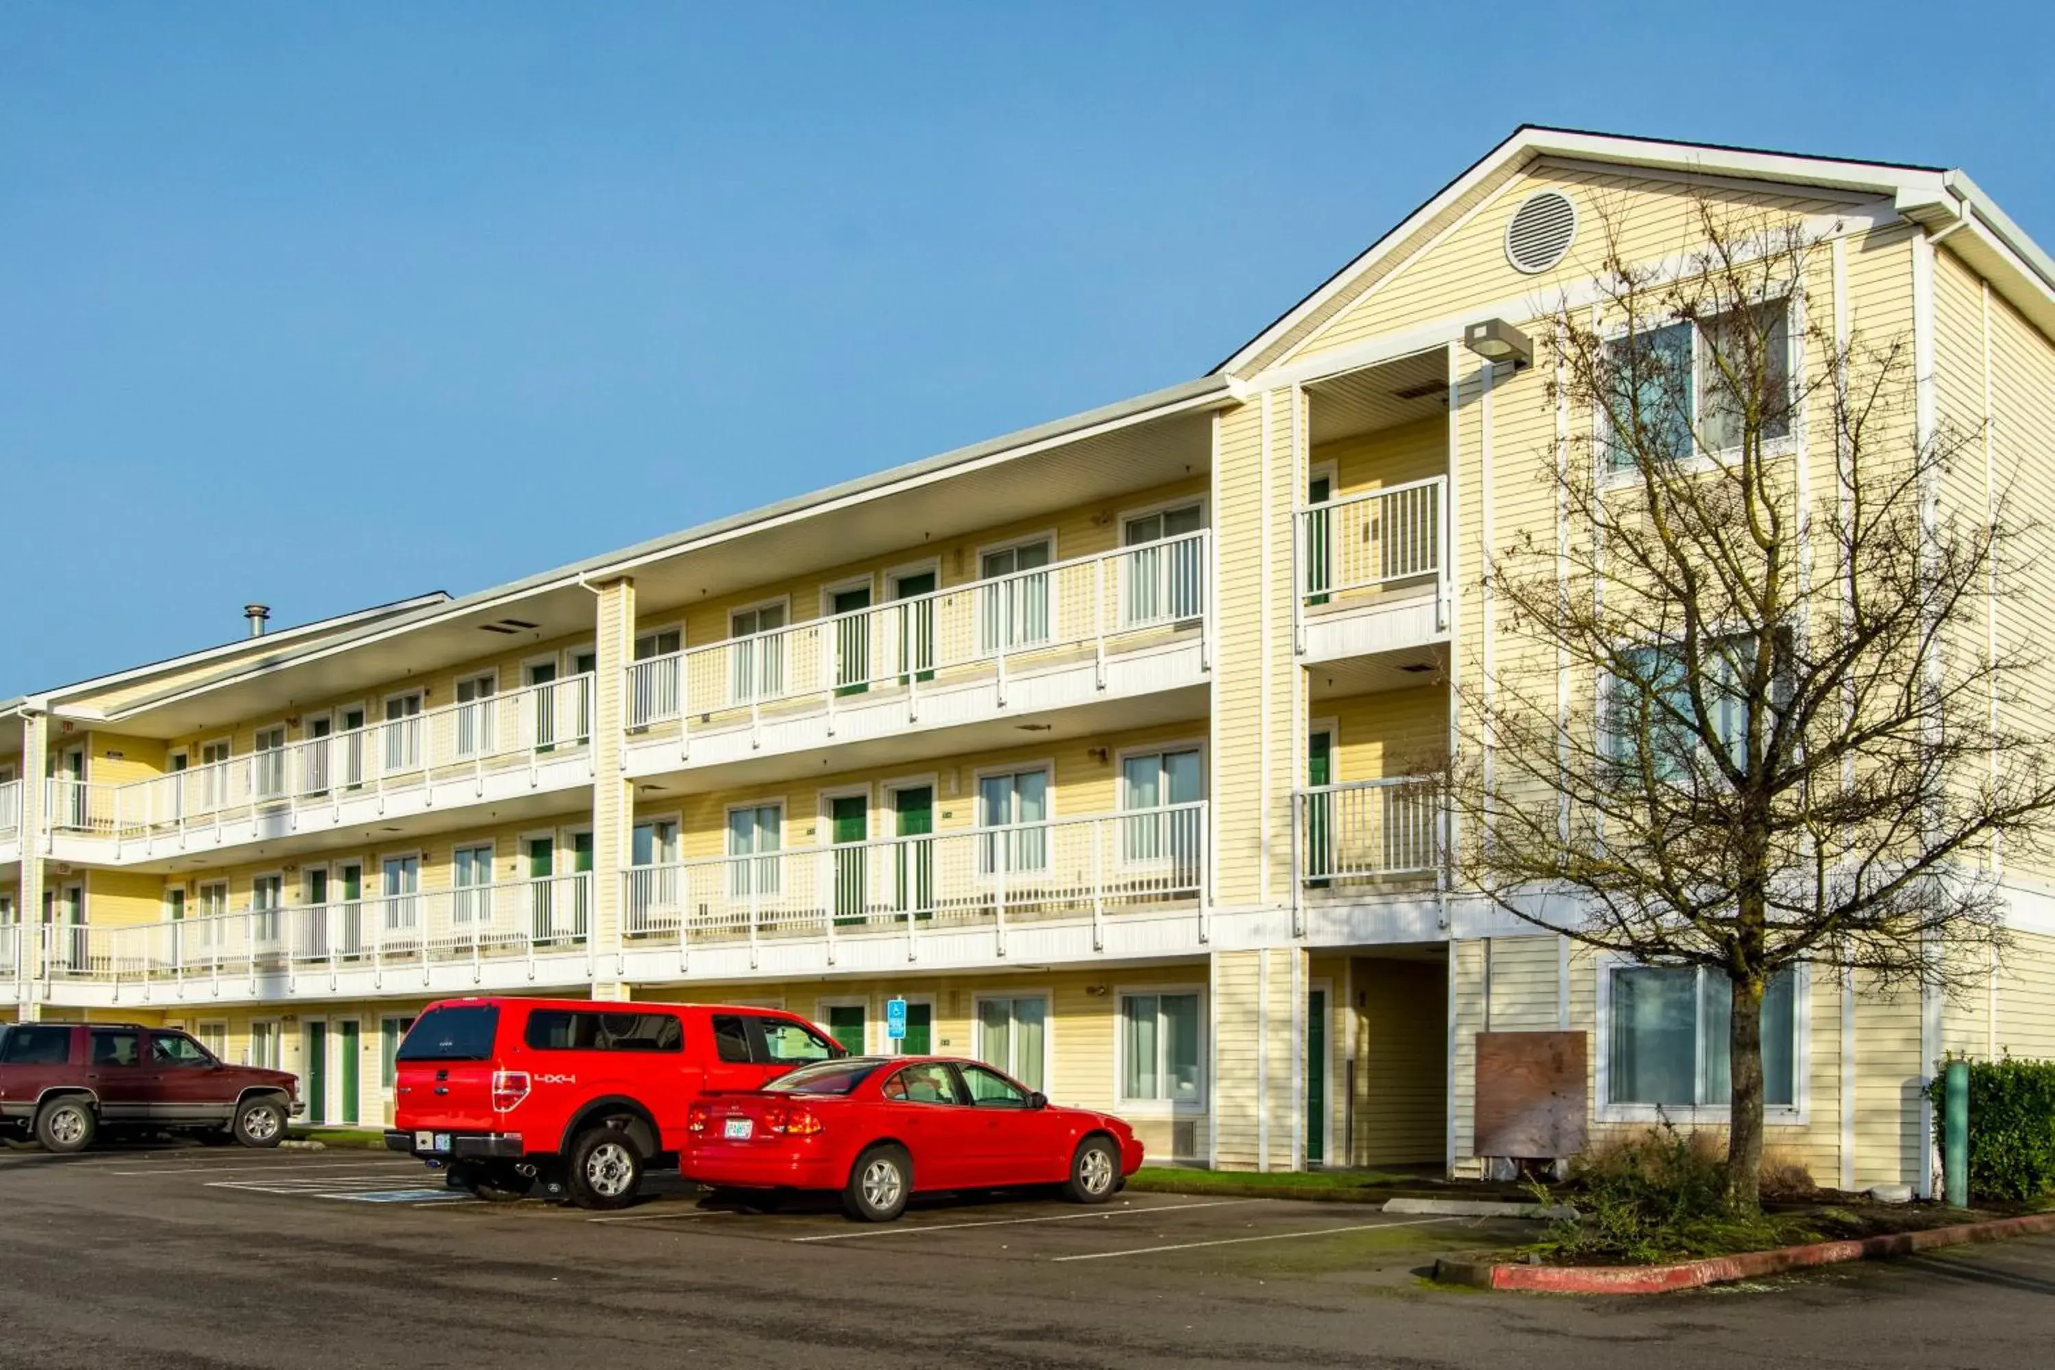
[[[2026,1214],[1993,1222],[1960,1222],[1923,1232],[1891,1232],[1862,1241],[1823,1241],[1780,1251],[1745,1251],[1704,1261],[1671,1265],[1500,1265],[1490,1261],[1434,1261],[1434,1278],[1443,1284],[1467,1284],[1480,1290],[1529,1290],[1539,1294],[1669,1294],[1704,1284],[1776,1276],[1810,1265],[1841,1261],[1874,1261],[1893,1255],[1963,1247],[1969,1243],[2006,1241],[2055,1232],[2055,1214]]]

